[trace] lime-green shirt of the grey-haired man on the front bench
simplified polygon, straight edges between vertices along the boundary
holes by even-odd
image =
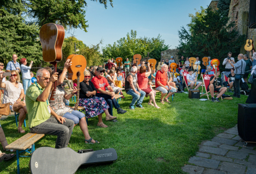
[[[28,111],[28,123],[30,128],[40,125],[42,122],[48,120],[51,116],[47,109],[47,106],[50,105],[48,99],[48,104],[47,102],[39,102],[36,100],[38,96],[42,93],[42,91],[44,91],[44,89],[42,89],[39,84],[38,87],[36,86],[36,84],[32,84],[28,87],[26,92],[26,106]]]

